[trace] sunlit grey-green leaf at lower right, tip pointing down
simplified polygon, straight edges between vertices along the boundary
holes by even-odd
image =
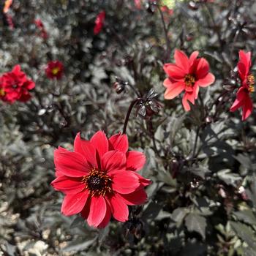
[[[199,233],[206,239],[206,218],[197,214],[188,214],[185,218],[185,225],[190,232]]]

